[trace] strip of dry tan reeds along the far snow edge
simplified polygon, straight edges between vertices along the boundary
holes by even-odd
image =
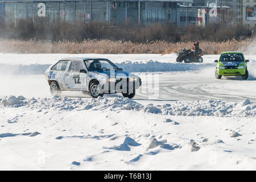
[[[251,39],[228,40],[226,42],[201,42],[204,54],[219,54],[223,51],[242,51],[249,46]],[[169,43],[154,41],[132,43],[111,40],[84,40],[83,42],[51,42],[46,40],[0,40],[2,53],[174,53],[181,48],[191,49],[193,42]]]

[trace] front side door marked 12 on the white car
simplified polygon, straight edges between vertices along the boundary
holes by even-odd
[[[87,74],[80,73],[85,70],[82,60],[70,60],[69,69],[65,74],[65,83],[67,90],[86,90]]]

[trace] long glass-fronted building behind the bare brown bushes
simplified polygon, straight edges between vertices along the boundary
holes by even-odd
[[[194,1],[194,2],[193,2]],[[193,6],[193,3],[195,6]],[[141,24],[174,23],[177,26],[197,24],[202,0],[0,0],[0,16],[6,20],[66,20],[67,22],[113,22],[127,19]]]

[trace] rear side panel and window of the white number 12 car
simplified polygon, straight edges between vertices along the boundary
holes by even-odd
[[[58,82],[61,89],[65,89],[65,73],[69,60],[60,60],[49,71],[49,80],[55,80]]]

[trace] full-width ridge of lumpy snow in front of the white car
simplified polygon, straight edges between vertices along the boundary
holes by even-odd
[[[31,109],[54,110],[102,110],[117,111],[133,110],[161,115],[183,116],[215,116],[215,117],[256,117],[256,103],[245,100],[242,102],[231,101],[175,101],[163,105],[142,105],[134,100],[124,97],[113,98],[67,98],[54,96],[53,98],[31,98],[19,101],[14,96],[0,98],[1,107],[27,107]],[[6,104],[7,102],[7,104]],[[246,103],[246,105],[245,105]],[[129,107],[127,107],[129,105]],[[168,122],[167,119],[165,122]],[[173,122],[174,125],[179,123]]]

